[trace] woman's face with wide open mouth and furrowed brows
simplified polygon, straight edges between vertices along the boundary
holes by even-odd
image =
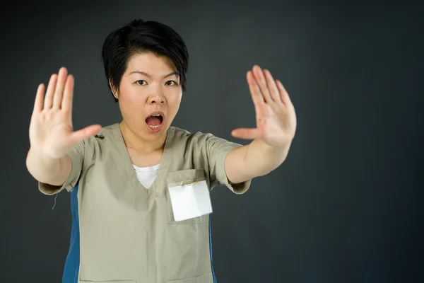
[[[182,87],[171,59],[134,54],[114,93],[124,123],[146,141],[165,136],[181,103]]]

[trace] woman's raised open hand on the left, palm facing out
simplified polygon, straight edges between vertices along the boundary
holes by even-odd
[[[91,125],[76,132],[72,127],[73,76],[62,67],[52,74],[45,93],[37,89],[30,122],[30,147],[44,158],[59,159],[79,141],[97,134],[102,127]]]

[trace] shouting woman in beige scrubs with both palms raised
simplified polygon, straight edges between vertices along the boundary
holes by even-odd
[[[27,167],[41,192],[71,192],[73,226],[63,282],[216,282],[209,191],[245,192],[283,163],[295,135],[288,93],[254,66],[247,82],[257,128],[246,146],[172,126],[188,53],[172,28],[135,20],[107,36],[102,59],[122,121],[72,127],[73,76],[37,89]]]

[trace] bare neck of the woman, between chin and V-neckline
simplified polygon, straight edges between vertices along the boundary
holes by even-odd
[[[128,149],[133,149],[139,154],[149,154],[154,151],[163,150],[163,147],[165,146],[166,132],[157,140],[147,141],[137,132],[131,131],[124,120],[119,123],[119,129],[121,129],[126,147]]]

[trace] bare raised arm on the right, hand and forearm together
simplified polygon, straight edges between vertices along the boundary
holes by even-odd
[[[255,66],[247,72],[247,82],[257,117],[257,128],[235,129],[234,137],[253,139],[225,158],[230,183],[241,183],[266,175],[278,168],[288,155],[295,135],[296,115],[293,104],[280,81],[268,70]]]

